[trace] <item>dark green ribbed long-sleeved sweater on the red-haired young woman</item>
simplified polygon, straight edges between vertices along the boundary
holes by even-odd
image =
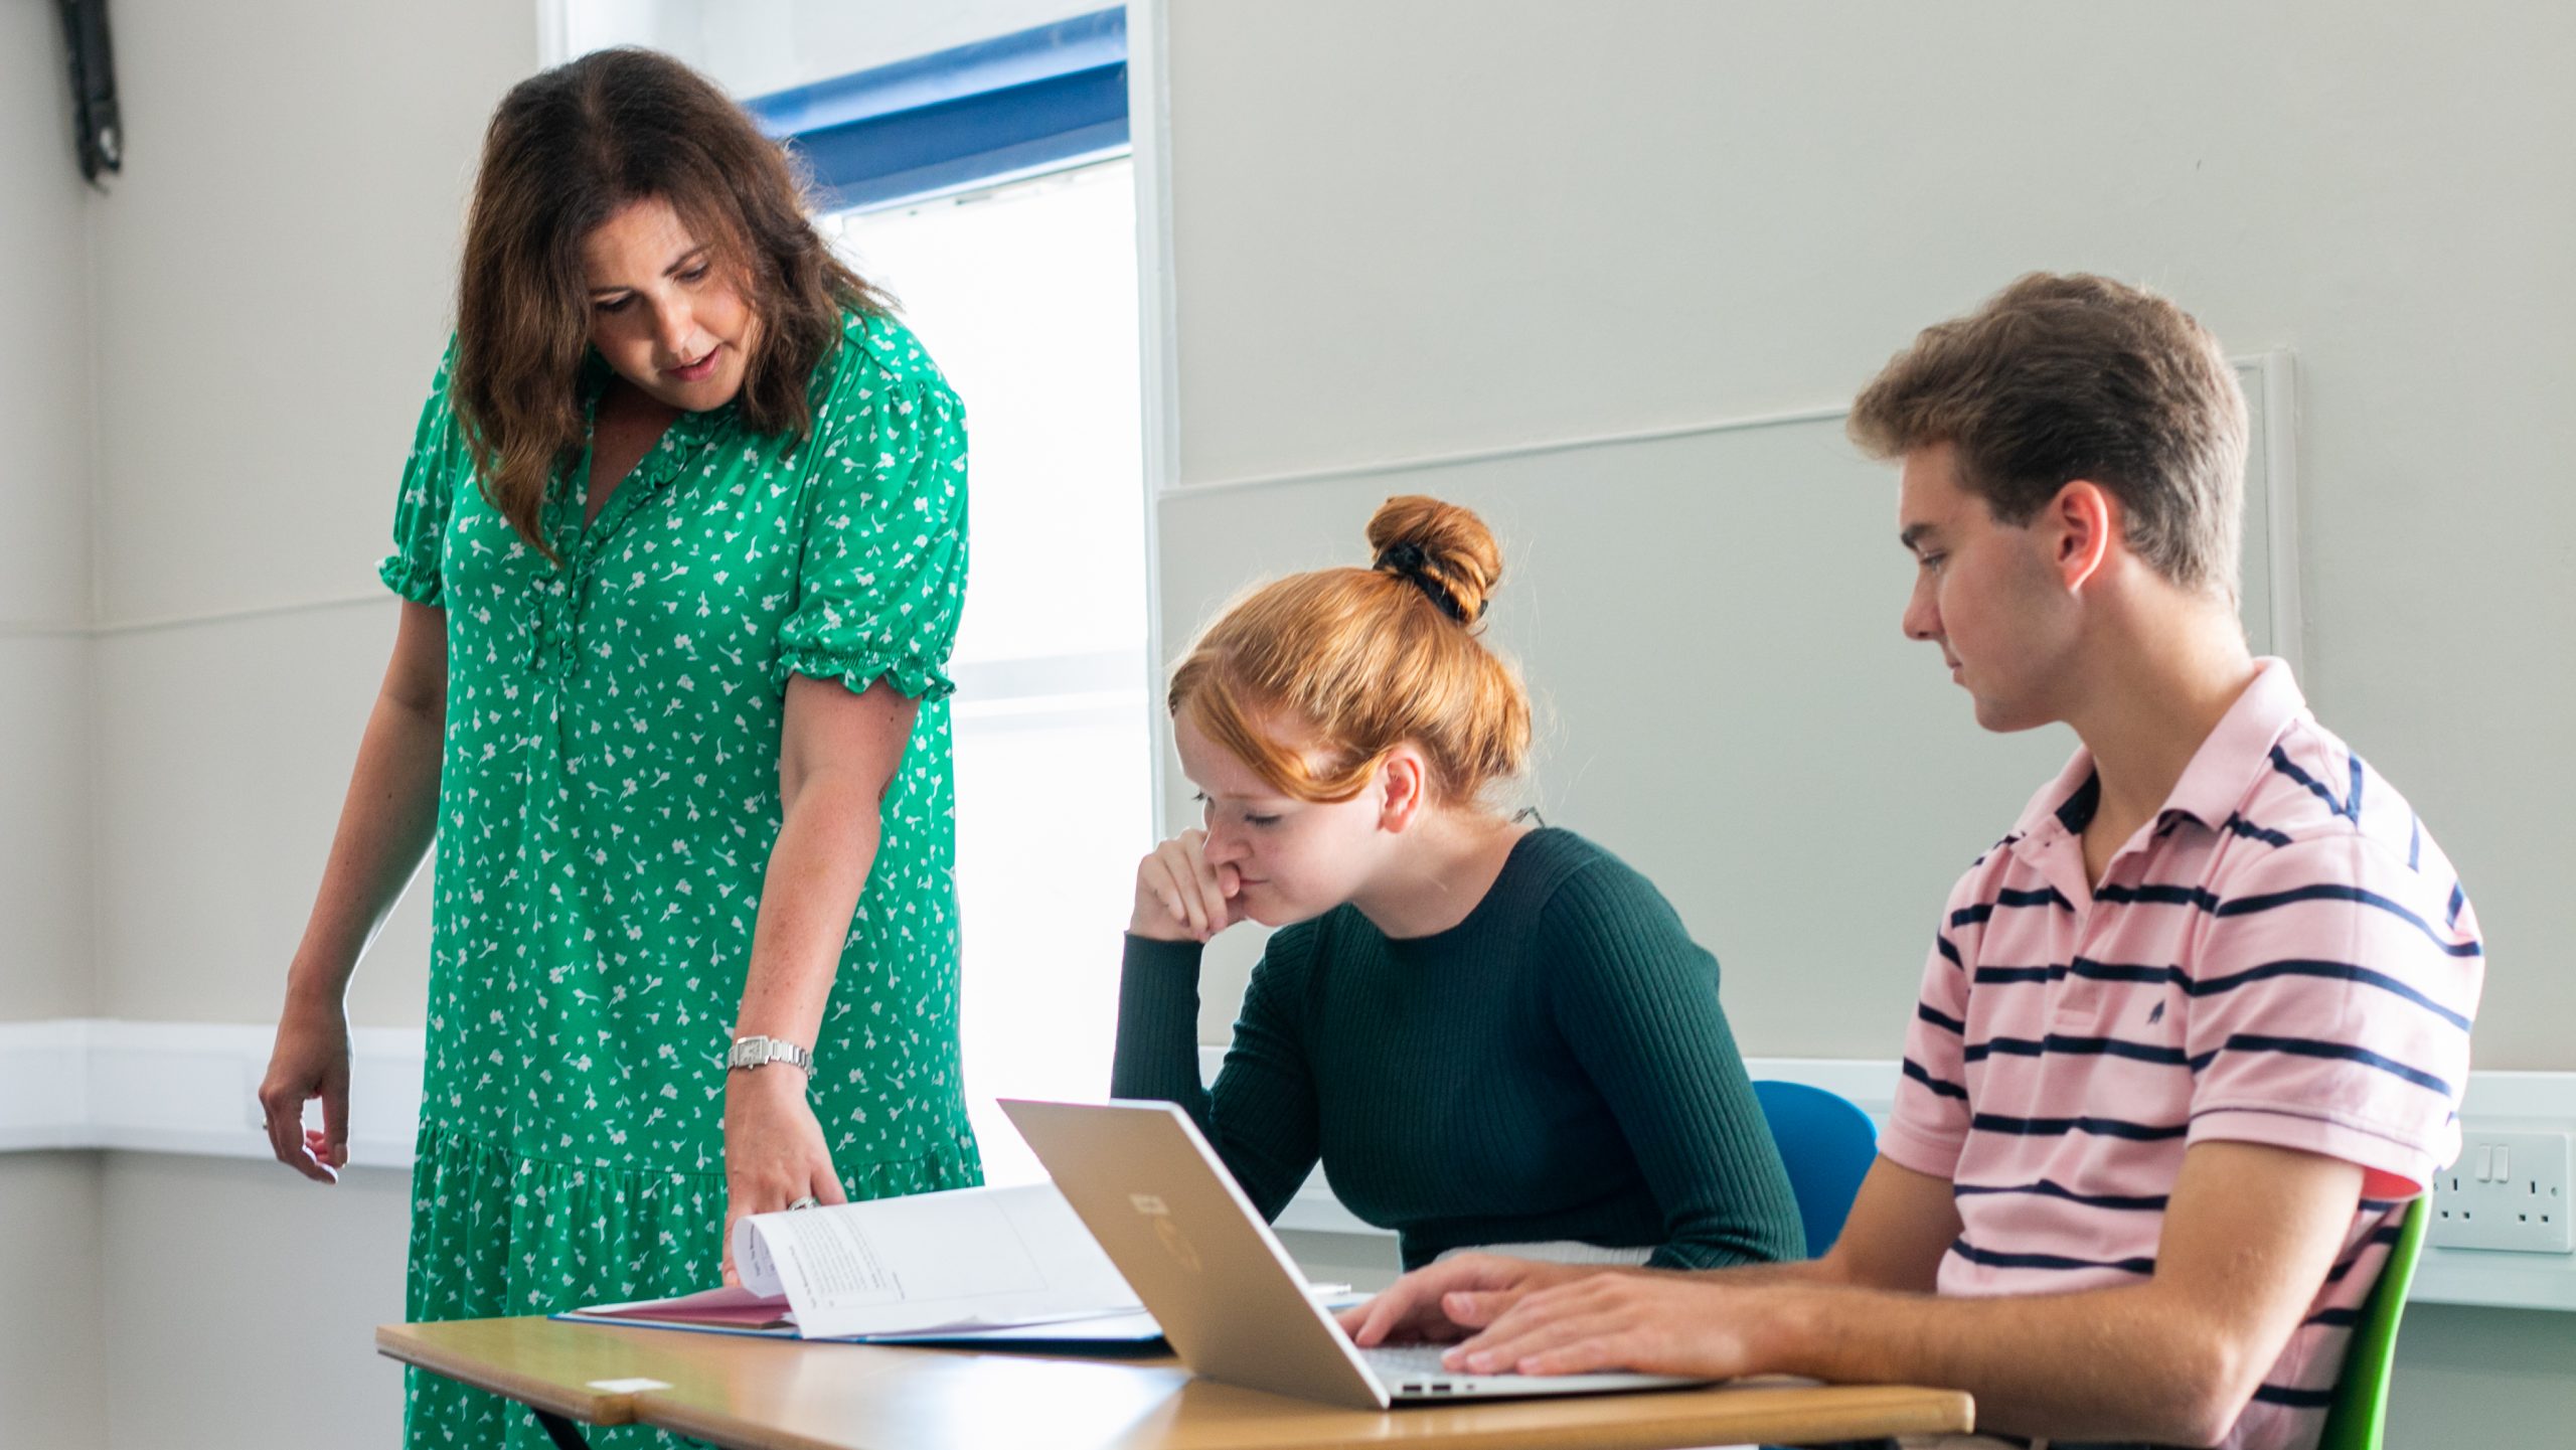
[[[1213,1095],[1198,943],[1126,940],[1110,1092],[1180,1102],[1265,1218],[1324,1162],[1404,1267],[1468,1244],[1803,1254],[1798,1203],[1718,1010],[1718,963],[1651,881],[1564,829],[1512,847],[1455,927],[1355,907],[1270,937]]]

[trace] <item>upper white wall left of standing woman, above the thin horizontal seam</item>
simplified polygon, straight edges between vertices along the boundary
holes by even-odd
[[[116,8],[95,206],[100,623],[381,592],[526,0]]]

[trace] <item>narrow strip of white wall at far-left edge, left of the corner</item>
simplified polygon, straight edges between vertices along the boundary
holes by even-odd
[[[0,1022],[90,1010],[90,250],[62,15],[0,5]],[[93,1154],[0,1154],[0,1445],[106,1427]],[[36,1306],[36,1308],[31,1308]]]

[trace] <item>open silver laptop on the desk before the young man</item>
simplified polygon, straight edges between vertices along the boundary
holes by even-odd
[[[1386,1409],[1690,1386],[1674,1375],[1455,1375],[1440,1344],[1360,1350],[1172,1102],[1002,1100],[1185,1365],[1257,1391]]]

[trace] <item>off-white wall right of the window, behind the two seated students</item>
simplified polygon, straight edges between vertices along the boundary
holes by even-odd
[[[2576,1069],[2576,13],[1175,0],[1167,46],[1167,652],[1226,579],[1358,561],[1388,492],[1494,507],[1494,628],[1561,726],[1533,793],[1659,876],[1747,1053],[1893,1056],[1940,889],[2063,739],[1960,755],[1963,706],[1896,636],[1886,474],[1829,428],[1806,458],[1710,435],[1734,443],[1365,469],[1842,404],[2022,270],[2143,281],[2231,353],[2295,355],[2308,695],[2468,876],[2478,1066]],[[1819,675],[1837,711],[1801,713]],[[1775,719],[1945,778],[1855,793]],[[1744,742],[1795,770],[1759,780]],[[1695,840],[1754,832],[1829,909],[1692,871]],[[1880,871],[1888,832],[1950,845]],[[1821,922],[1814,945],[1783,950],[1777,917]],[[1211,971],[1211,1040],[1244,958]],[[2416,1308],[2391,1445],[2558,1442],[2568,1365],[2566,1313]]]

